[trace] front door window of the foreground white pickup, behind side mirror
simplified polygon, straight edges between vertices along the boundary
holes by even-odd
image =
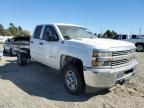
[[[49,41],[58,41],[58,35],[55,28],[50,25],[45,26],[42,39]]]

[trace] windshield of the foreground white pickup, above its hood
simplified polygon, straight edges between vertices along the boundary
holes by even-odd
[[[86,28],[76,26],[58,26],[64,39],[75,38],[96,38],[96,36]]]

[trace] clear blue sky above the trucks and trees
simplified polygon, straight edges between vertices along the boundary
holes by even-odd
[[[0,23],[33,31],[38,24],[71,23],[96,33],[144,34],[144,0],[1,0]]]

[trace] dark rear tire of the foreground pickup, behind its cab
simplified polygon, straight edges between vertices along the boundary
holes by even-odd
[[[20,66],[24,66],[27,63],[27,57],[24,53],[17,53],[17,63]]]

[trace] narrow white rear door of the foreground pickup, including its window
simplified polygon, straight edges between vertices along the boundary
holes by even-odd
[[[31,57],[38,61],[41,62],[41,34],[43,31],[43,25],[39,25],[35,28],[35,31],[33,33],[33,36],[30,40],[30,53],[31,53]]]

